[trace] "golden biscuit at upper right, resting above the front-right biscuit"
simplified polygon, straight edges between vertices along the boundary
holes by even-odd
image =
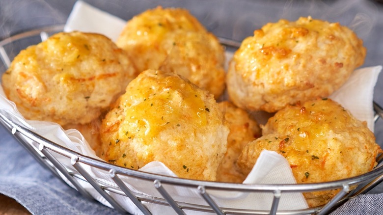
[[[365,55],[362,40],[339,23],[311,17],[269,23],[234,54],[226,80],[230,100],[240,108],[275,112],[325,98]]]

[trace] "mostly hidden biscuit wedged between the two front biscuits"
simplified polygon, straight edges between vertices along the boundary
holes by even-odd
[[[227,136],[227,151],[218,167],[217,181],[242,183],[247,175],[239,171],[238,157],[247,143],[261,136],[261,129],[245,110],[232,103],[224,101],[218,106],[229,123],[230,133]]]

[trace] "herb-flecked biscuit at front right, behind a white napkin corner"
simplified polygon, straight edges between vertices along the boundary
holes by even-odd
[[[311,100],[275,113],[262,136],[246,145],[238,166],[247,174],[262,150],[289,161],[298,184],[361,175],[373,169],[382,152],[365,122],[330,99]],[[310,207],[327,203],[339,190],[303,193]]]

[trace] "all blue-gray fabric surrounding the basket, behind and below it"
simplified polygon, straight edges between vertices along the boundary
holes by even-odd
[[[28,29],[63,24],[76,0],[0,0],[0,39]],[[84,0],[128,20],[157,5],[185,7],[219,37],[241,41],[254,29],[284,18],[312,16],[351,27],[364,40],[364,66],[383,64],[383,5],[373,0]],[[383,76],[374,100],[383,105]],[[376,124],[383,143],[383,120]],[[32,214],[115,214],[41,167],[0,126],[0,193],[15,198]],[[383,214],[383,185],[350,200],[333,214]]]

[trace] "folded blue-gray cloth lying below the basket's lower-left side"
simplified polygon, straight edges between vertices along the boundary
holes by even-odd
[[[0,193],[34,215],[114,215],[89,201],[42,167],[3,127],[0,128]]]

